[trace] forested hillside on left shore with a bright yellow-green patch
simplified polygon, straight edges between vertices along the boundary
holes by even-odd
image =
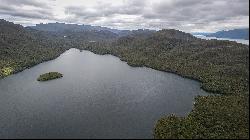
[[[0,20],[0,78],[59,56],[66,42],[47,35]]]

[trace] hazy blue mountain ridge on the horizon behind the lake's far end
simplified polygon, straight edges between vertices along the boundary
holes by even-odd
[[[102,41],[113,40],[118,37],[112,29],[100,26],[77,25],[65,23],[48,23],[28,26],[27,30],[41,31],[49,36],[64,37],[65,39],[74,39],[76,41]],[[39,34],[41,35],[41,33]]]

